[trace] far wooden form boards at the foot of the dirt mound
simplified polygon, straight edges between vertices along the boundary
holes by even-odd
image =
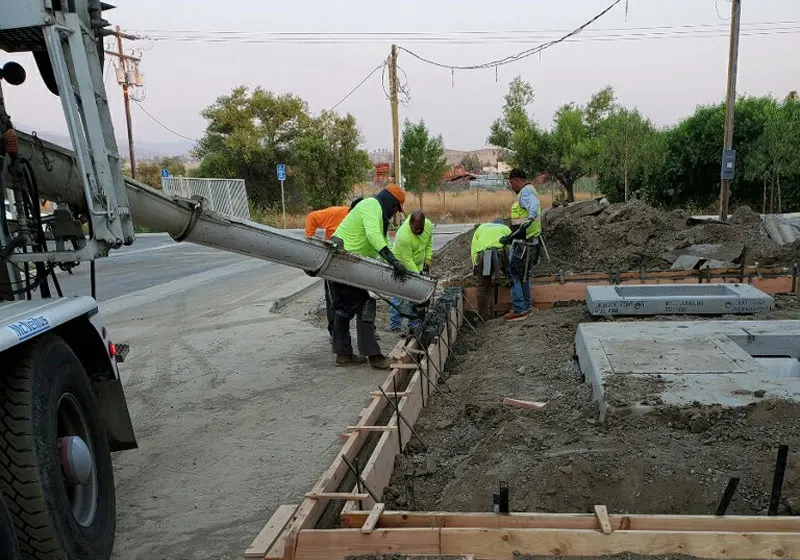
[[[457,281],[445,284],[457,285]],[[747,266],[739,268],[711,268],[703,270],[664,270],[621,272],[617,274],[581,273],[549,274],[531,278],[531,297],[534,306],[549,309],[555,303],[578,301],[586,297],[588,286],[607,286],[609,284],[698,284],[726,283],[751,284],[767,294],[797,294],[800,289],[798,267]],[[477,305],[475,288],[465,288],[464,297],[468,304]],[[495,313],[505,313],[511,309],[509,289],[497,286],[494,292]]]

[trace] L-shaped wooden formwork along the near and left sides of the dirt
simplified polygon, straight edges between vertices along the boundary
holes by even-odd
[[[428,348],[430,362],[417,354],[415,343],[396,347],[398,367],[382,389],[398,390],[398,408],[413,425],[431,395],[463,320],[463,301],[451,309],[450,322]],[[422,366],[411,367],[414,360]],[[422,360],[419,359],[422,357]],[[403,364],[403,365],[400,365]],[[425,375],[423,375],[423,373]],[[614,515],[605,506],[594,514],[454,513],[389,511],[357,488],[340,488],[352,461],[367,441],[380,433],[362,477],[382,496],[394,460],[411,439],[398,416],[384,412],[390,405],[380,392],[349,427],[342,450],[298,505],[281,506],[245,553],[246,558],[271,560],[344,560],[352,555],[448,555],[484,560],[512,560],[519,554],[537,556],[603,556],[681,554],[698,558],[800,559],[800,517]],[[388,420],[380,421],[381,418]],[[398,441],[399,439],[399,441]],[[342,501],[341,528],[317,529],[332,500]]]

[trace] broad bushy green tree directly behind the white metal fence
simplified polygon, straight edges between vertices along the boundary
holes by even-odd
[[[305,101],[240,86],[203,111],[206,132],[194,155],[205,177],[244,179],[251,202],[264,208],[280,202],[278,163],[291,165],[291,147],[311,118]],[[287,188],[293,181],[287,181]]]

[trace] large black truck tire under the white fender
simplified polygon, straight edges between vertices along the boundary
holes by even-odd
[[[107,560],[116,529],[114,475],[86,371],[52,333],[3,356],[3,362],[0,491],[20,551],[35,560]],[[70,436],[85,443],[82,458],[91,453],[88,467],[66,458],[75,456],[65,451],[73,449],[65,446]]]

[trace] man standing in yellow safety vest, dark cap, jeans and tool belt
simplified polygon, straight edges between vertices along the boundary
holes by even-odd
[[[501,239],[510,245],[508,251],[508,274],[511,284],[511,311],[506,321],[523,321],[528,318],[531,305],[531,270],[539,260],[539,235],[542,233],[542,211],[536,190],[528,181],[525,172],[514,168],[508,175],[508,183],[516,193],[511,206],[513,233]]]

